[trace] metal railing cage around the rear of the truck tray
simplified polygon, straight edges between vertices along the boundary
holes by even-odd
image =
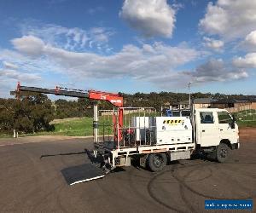
[[[119,125],[119,110],[123,124]],[[150,146],[155,142],[155,117],[153,107],[121,107],[99,111],[99,138],[115,141],[117,147]]]

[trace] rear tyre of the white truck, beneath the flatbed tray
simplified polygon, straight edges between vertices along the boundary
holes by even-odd
[[[166,153],[149,154],[147,158],[148,168],[151,171],[160,171],[166,166]]]

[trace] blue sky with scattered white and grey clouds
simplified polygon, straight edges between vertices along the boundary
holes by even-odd
[[[256,1],[0,0],[0,97],[21,85],[256,95]]]

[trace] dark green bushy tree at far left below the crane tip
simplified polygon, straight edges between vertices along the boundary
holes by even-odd
[[[0,131],[17,130],[24,133],[52,130],[49,124],[54,119],[54,107],[46,95],[22,95],[20,100],[0,101]]]

